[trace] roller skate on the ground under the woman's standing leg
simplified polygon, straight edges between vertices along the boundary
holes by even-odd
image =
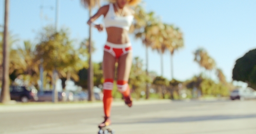
[[[115,134],[115,131],[111,128],[111,121],[109,117],[105,117],[104,122],[98,125],[98,134]]]

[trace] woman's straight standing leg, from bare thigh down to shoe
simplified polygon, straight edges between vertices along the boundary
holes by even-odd
[[[100,127],[104,127],[105,125],[110,125],[110,112],[111,112],[111,104],[112,104],[112,88],[113,88],[113,79],[115,75],[115,62],[116,59],[110,53],[104,51],[103,55],[103,77],[105,79],[103,83],[103,105],[104,105],[104,113],[105,113],[105,121],[100,124]]]

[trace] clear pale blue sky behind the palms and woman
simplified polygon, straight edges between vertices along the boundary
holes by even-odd
[[[158,1],[158,2],[156,2]],[[103,2],[106,4],[106,2]],[[202,69],[194,62],[193,52],[207,50],[227,81],[232,81],[236,59],[256,49],[256,0],[143,0],[147,12],[153,11],[162,22],[175,25],[184,34],[184,48],[174,53],[174,78],[185,81],[198,75]],[[96,9],[93,10],[93,13]],[[89,12],[80,0],[59,0],[57,27],[69,28],[70,37],[79,44],[89,37],[86,25]],[[4,0],[0,0],[0,25],[4,22]],[[22,45],[30,40],[34,44],[38,32],[47,25],[55,25],[56,0],[10,0],[9,30]],[[103,17],[97,20],[103,22]],[[102,62],[103,46],[107,35],[92,31],[96,51],[93,62]],[[133,56],[145,64],[145,47],[141,40],[130,35]],[[149,50],[149,71],[161,75],[160,55]],[[171,54],[164,53],[164,77],[171,79]]]

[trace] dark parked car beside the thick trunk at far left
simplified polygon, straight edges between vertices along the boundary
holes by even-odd
[[[37,101],[37,90],[27,86],[10,86],[11,100],[28,102]]]

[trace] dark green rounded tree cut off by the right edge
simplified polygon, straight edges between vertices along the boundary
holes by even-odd
[[[249,87],[256,89],[256,49],[250,50],[243,57],[236,60],[233,68],[233,80],[243,81]]]

